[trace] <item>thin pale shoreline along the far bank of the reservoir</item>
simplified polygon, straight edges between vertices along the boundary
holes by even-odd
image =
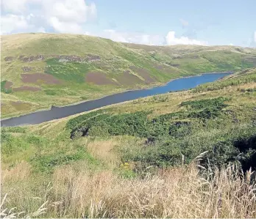
[[[156,83],[156,84],[152,84],[152,86],[147,86],[147,87],[144,87],[144,88],[141,88],[141,89],[127,89],[127,90],[124,90],[124,91],[121,91],[121,92],[114,92],[112,94],[107,94],[103,97],[99,97],[99,98],[92,99],[92,100],[82,100],[82,101],[79,101],[79,102],[76,102],[76,103],[71,103],[71,104],[68,104],[68,105],[56,105],[56,106],[51,105],[51,106],[49,106],[49,108],[40,108],[37,111],[31,111],[28,114],[18,114],[17,116],[11,116],[11,117],[6,117],[6,118],[3,118],[3,119],[0,119],[0,122],[2,122],[4,120],[7,120],[7,119],[14,119],[14,118],[18,118],[20,116],[27,116],[29,114],[38,113],[40,111],[51,111],[52,108],[65,108],[67,106],[79,105],[81,103],[87,103],[87,102],[93,101],[93,100],[101,100],[104,97],[110,97],[110,96],[115,95],[115,94],[123,94],[123,93],[126,93],[126,92],[134,92],[134,91],[143,91],[143,90],[148,90],[148,89],[154,89],[154,88],[157,88],[157,87],[160,87],[160,86],[166,86],[171,81],[175,81],[175,80],[182,79],[182,78],[193,78],[193,77],[196,77],[196,76],[209,75],[209,74],[221,74],[221,73],[222,74],[224,74],[224,73],[231,73],[232,74],[232,73],[235,73],[235,72],[225,71],[225,72],[218,72],[218,73],[217,72],[214,72],[214,73],[199,73],[198,75],[189,75],[189,76],[185,76],[185,77],[174,78],[174,79],[171,79],[170,81],[168,81],[166,83],[159,83],[158,86],[157,86],[157,83]]]

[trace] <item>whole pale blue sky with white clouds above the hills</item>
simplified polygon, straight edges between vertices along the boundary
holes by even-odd
[[[256,48],[256,0],[1,0],[1,34]]]

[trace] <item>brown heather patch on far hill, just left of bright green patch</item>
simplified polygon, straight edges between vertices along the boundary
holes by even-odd
[[[43,81],[47,84],[59,84],[60,81],[52,75],[35,73],[35,74],[21,74],[21,81],[24,83],[38,83]]]

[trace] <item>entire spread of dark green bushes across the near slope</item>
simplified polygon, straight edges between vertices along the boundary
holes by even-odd
[[[182,157],[185,163],[191,163],[197,155],[208,151],[202,159],[202,166],[207,166],[209,162],[213,166],[221,166],[240,161],[246,168],[246,163],[252,163],[255,156],[253,136],[256,126],[235,125],[231,120],[229,122],[228,116],[221,116],[228,100],[217,97],[185,101],[179,105],[180,111],[153,119],[148,116],[151,112],[146,111],[130,114],[95,111],[71,119],[67,127],[73,128],[71,138],[124,135],[146,138],[143,146],[131,146],[121,152],[124,162],[135,161],[142,167],[176,166],[182,162]],[[225,121],[216,121],[219,116]],[[247,141],[251,143],[246,144]],[[241,146],[238,146],[239,142],[242,142]]]

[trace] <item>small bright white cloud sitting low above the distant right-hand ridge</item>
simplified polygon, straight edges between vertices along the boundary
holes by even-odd
[[[166,36],[167,45],[207,45],[205,41],[193,40],[188,37],[175,37],[175,31],[169,31]]]

